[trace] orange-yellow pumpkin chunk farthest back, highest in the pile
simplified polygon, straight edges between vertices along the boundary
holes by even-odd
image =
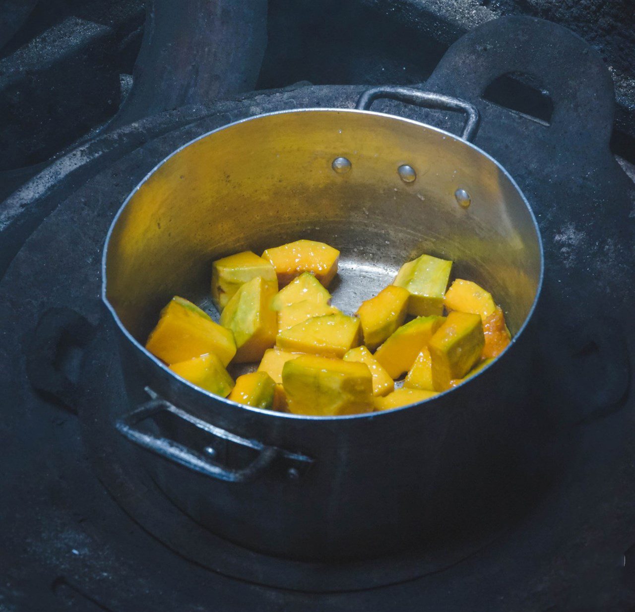
[[[337,274],[340,251],[314,240],[297,240],[267,249],[262,256],[276,269],[282,287],[302,272],[312,272],[324,287],[328,287]]]

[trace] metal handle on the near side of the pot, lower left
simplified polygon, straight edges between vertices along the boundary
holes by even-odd
[[[257,456],[251,463],[240,469],[233,469],[211,461],[208,457],[198,453],[176,440],[157,436],[151,432],[142,431],[138,425],[147,418],[159,415],[161,412],[168,412],[180,420],[184,420],[190,425],[194,425],[211,437],[221,439],[225,442],[238,444],[257,451]],[[177,408],[165,399],[151,399],[139,408],[122,416],[116,422],[117,430],[128,440],[145,448],[155,455],[162,456],[171,462],[179,463],[184,467],[204,474],[217,480],[225,482],[248,482],[255,480],[265,471],[274,468],[282,469],[290,480],[297,480],[311,465],[312,460],[304,455],[290,453],[276,446],[265,446],[262,442],[246,439],[236,434],[232,434],[220,427],[215,427],[190,413]]]

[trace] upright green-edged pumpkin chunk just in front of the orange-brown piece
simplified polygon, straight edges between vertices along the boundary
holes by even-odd
[[[450,389],[450,381],[463,378],[481,359],[485,346],[481,316],[453,310],[428,343],[434,389]]]

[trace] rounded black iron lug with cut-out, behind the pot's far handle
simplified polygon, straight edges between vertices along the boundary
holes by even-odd
[[[613,83],[599,53],[570,30],[538,18],[502,17],[456,41],[425,88],[478,105],[498,77],[525,75],[553,103],[549,130],[563,147],[582,141],[608,150]],[[572,140],[562,140],[570,136]]]

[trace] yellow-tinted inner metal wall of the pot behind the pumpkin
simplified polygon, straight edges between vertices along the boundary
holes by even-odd
[[[349,172],[333,171],[338,156]],[[399,178],[401,164],[415,169],[414,182]],[[471,196],[468,208],[457,189]],[[424,252],[490,289],[512,333],[539,283],[535,224],[491,159],[397,117],[308,110],[233,124],[159,166],[112,229],[107,299],[144,343],[171,296],[206,303],[215,258],[299,238],[342,251],[335,303],[349,313]]]

